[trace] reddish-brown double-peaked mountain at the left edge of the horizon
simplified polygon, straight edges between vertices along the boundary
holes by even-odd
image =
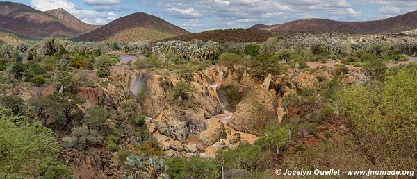
[[[0,28],[29,38],[76,37],[97,26],[85,24],[63,9],[42,12],[21,3],[0,2]]]

